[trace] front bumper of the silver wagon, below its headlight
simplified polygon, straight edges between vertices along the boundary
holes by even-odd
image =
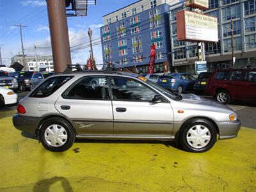
[[[220,140],[236,138],[241,127],[239,120],[234,122],[216,122],[216,124],[220,130]]]

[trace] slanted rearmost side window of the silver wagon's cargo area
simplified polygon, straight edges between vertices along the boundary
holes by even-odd
[[[56,92],[58,88],[63,86],[63,84],[67,83],[73,76],[58,76],[47,79],[42,83],[34,92],[29,95],[29,97],[48,97],[52,93]]]

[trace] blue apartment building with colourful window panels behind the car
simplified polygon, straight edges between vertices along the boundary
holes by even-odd
[[[171,1],[170,1],[171,2]],[[170,71],[168,1],[141,0],[103,17],[100,28],[105,65],[147,73],[150,46],[156,46],[155,72]]]

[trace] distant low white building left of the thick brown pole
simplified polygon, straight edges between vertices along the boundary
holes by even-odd
[[[11,60],[12,63],[19,62],[23,64],[22,55],[13,56]],[[25,63],[29,71],[54,71],[52,56],[37,56],[35,58],[35,56],[25,55]]]

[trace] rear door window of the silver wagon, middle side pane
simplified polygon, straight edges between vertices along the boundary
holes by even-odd
[[[82,78],[62,96],[64,99],[109,99],[108,79],[100,76]]]

